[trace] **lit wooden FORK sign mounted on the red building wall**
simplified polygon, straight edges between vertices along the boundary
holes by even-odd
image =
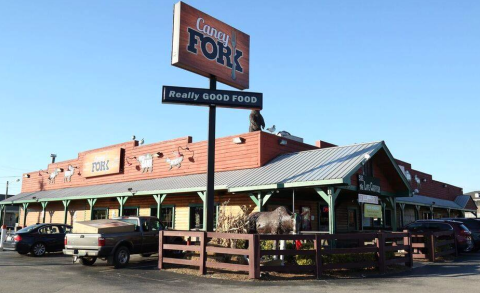
[[[82,176],[85,178],[120,173],[122,148],[86,154]]]

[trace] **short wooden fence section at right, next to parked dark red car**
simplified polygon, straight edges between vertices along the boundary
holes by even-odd
[[[435,262],[439,256],[458,256],[454,231],[412,233],[411,237],[414,259]]]

